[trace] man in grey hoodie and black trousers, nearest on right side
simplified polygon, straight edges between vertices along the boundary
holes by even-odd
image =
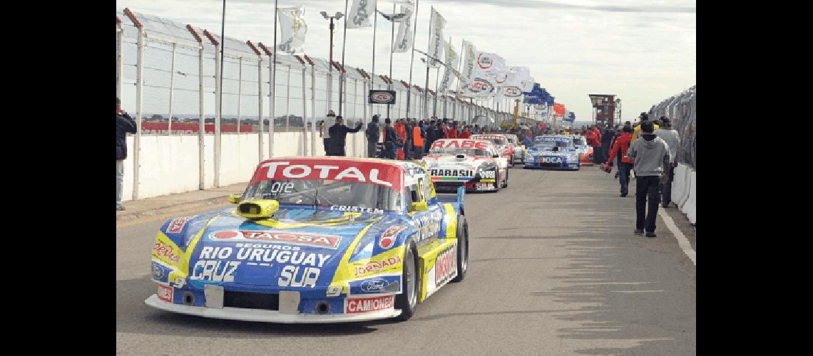
[[[644,234],[646,229],[647,238],[656,236],[660,179],[663,167],[670,162],[667,143],[654,135],[653,130],[651,121],[641,122],[642,139],[633,141],[627,151],[627,158],[635,160],[635,234]]]

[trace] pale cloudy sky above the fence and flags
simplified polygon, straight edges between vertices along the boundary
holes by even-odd
[[[348,4],[348,10],[353,0]],[[116,0],[125,7],[220,34],[220,0]],[[393,2],[378,9],[393,12]],[[328,56],[328,14],[346,12],[342,0],[285,0],[305,5],[305,53]],[[592,119],[588,94],[615,94],[622,119],[633,121],[652,105],[697,84],[697,3],[694,0],[419,0],[415,49],[428,47],[430,7],[446,19],[444,36],[460,53],[463,39],[499,54],[509,66],[528,66],[531,75],[577,121]],[[225,35],[270,44],[272,0],[227,0]],[[341,61],[344,18],[334,33],[333,59]],[[379,18],[376,73],[389,74],[391,25]],[[398,32],[398,24],[395,26]],[[396,33],[397,35],[397,33]],[[345,62],[372,67],[372,28],[348,29]],[[279,38],[279,35],[278,35]],[[412,81],[424,86],[426,67],[415,55]],[[393,78],[409,80],[410,54],[393,54]],[[441,72],[441,77],[442,77]],[[435,70],[430,75],[434,87]]]

